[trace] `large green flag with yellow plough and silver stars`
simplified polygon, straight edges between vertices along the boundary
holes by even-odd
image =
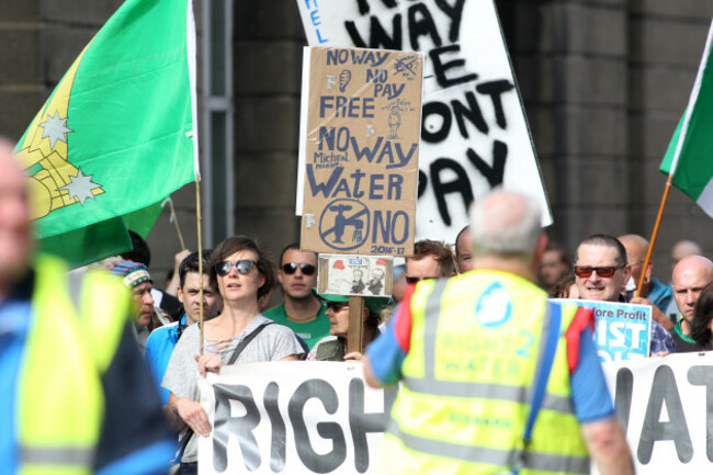
[[[191,0],[126,0],[18,144],[41,249],[75,264],[131,248],[194,180]]]

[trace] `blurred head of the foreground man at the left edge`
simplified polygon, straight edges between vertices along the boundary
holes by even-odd
[[[0,292],[25,270],[31,251],[27,179],[0,137]]]

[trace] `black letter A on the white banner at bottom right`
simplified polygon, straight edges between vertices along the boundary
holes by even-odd
[[[666,403],[668,411],[668,422],[659,420],[664,403]],[[666,365],[658,366],[654,373],[654,382],[648,396],[636,453],[641,463],[647,464],[650,462],[654,443],[660,440],[674,441],[680,462],[688,463],[693,457],[693,445],[686,425],[686,416],[681,405],[681,396],[676,385],[676,377],[674,371]]]

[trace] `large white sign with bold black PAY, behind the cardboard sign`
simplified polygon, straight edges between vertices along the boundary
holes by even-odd
[[[417,239],[454,241],[469,203],[498,185],[536,199],[552,223],[493,0],[297,4],[313,46],[425,53]]]

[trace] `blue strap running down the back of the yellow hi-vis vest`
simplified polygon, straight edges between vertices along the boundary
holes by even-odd
[[[553,302],[547,302],[547,335],[543,337],[545,340],[545,348],[542,354],[542,361],[537,374],[535,374],[535,385],[532,393],[532,400],[530,402],[530,414],[528,415],[528,422],[522,434],[523,450],[520,453],[520,460],[512,467],[512,473],[518,474],[522,466],[524,466],[524,457],[532,440],[532,429],[534,428],[535,420],[537,419],[537,414],[542,407],[542,402],[544,400],[547,381],[550,381],[550,372],[552,370],[552,364],[555,360],[555,353],[557,352],[557,340],[559,340],[559,327],[562,326],[562,306]]]

